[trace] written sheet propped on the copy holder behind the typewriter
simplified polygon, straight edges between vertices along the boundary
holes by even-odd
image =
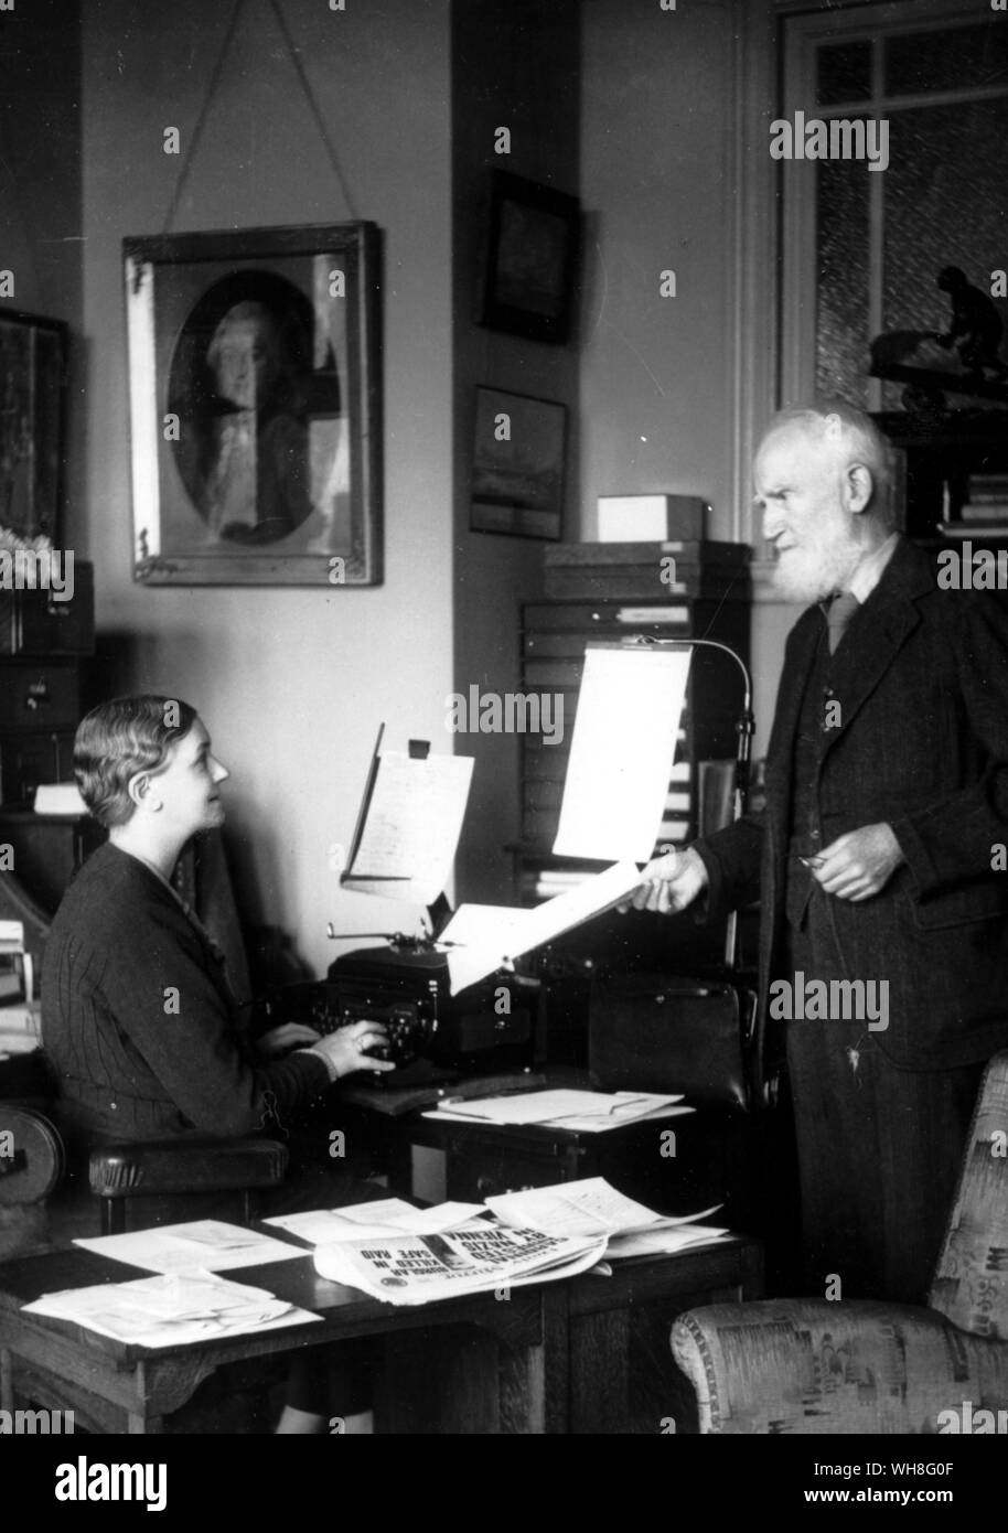
[[[472,766],[472,756],[386,751],[343,888],[434,904],[455,860]]]

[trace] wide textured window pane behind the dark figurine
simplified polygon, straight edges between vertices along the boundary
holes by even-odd
[[[962,267],[990,293],[991,271],[1005,265],[1008,98],[895,112],[889,135],[882,325],[945,333],[950,305],[936,287],[941,268]],[[885,408],[899,391],[885,386]]]

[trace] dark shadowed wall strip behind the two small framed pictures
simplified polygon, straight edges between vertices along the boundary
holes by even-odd
[[[453,8],[452,146],[455,256],[455,687],[469,696],[519,690],[518,621],[542,587],[541,541],[469,530],[472,443],[478,385],[568,406],[564,537],[579,526],[578,342],[525,340],[475,323],[484,270],[487,192],[493,167],[578,192],[576,0],[479,0]],[[509,127],[510,155],[493,150]],[[515,734],[463,734],[475,757],[466,831],[457,862],[461,898],[509,904],[513,866],[506,851],[519,822]]]

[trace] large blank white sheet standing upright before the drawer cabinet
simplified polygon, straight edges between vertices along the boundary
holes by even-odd
[[[553,843],[558,857],[648,862],[659,837],[691,652],[588,645]]]

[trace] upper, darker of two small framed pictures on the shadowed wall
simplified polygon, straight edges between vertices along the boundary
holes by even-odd
[[[493,172],[481,325],[567,340],[579,224],[578,198]]]

